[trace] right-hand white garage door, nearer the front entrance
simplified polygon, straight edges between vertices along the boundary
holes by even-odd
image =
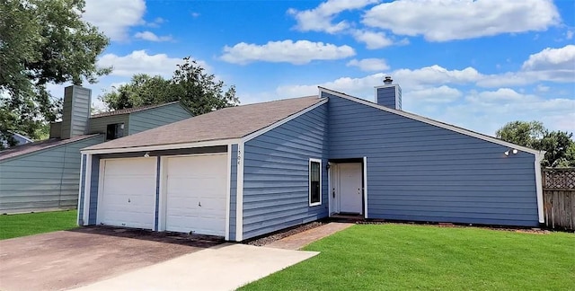
[[[225,236],[227,155],[166,158],[167,231]]]

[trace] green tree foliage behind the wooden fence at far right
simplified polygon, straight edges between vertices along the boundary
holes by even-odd
[[[573,134],[549,131],[539,121],[513,121],[496,132],[496,137],[516,145],[545,151],[541,164],[545,167],[575,166]]]

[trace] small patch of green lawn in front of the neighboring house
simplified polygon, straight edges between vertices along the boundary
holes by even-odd
[[[0,240],[78,227],[76,210],[0,216]]]

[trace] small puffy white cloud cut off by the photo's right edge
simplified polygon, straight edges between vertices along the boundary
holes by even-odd
[[[568,70],[575,71],[575,45],[563,48],[545,48],[529,56],[521,66],[524,70]]]

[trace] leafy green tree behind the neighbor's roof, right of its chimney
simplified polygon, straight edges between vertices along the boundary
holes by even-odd
[[[181,101],[193,115],[199,115],[239,103],[235,86],[226,91],[224,87],[223,81],[206,73],[190,57],[184,57],[172,79],[166,80],[160,75],[134,75],[129,84],[104,93],[100,99],[111,110]]]

